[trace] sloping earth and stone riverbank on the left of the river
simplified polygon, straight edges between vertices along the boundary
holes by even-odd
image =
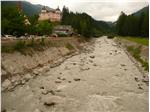
[[[24,41],[32,42],[32,40],[17,40],[17,42]],[[4,41],[2,45],[5,49],[10,49],[16,46],[17,42]],[[2,52],[2,91],[24,84],[43,71],[60,65],[65,59],[79,54],[86,41],[79,38],[54,38],[45,39],[43,46],[37,46],[36,41],[33,44],[36,48],[29,46],[18,48],[19,50],[12,49],[13,52]]]

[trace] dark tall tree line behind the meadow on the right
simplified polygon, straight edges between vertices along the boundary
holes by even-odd
[[[140,15],[126,15],[121,12],[116,24],[118,35],[122,36],[149,36],[149,12]]]

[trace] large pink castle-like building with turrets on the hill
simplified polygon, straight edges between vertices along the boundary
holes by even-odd
[[[60,22],[62,18],[62,12],[59,7],[57,9],[47,9],[45,6],[42,8],[39,14],[39,21],[50,20],[51,22]]]

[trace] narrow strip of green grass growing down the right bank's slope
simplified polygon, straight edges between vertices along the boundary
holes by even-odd
[[[135,47],[133,47],[133,46],[128,46],[128,47],[127,47],[127,50],[128,50],[128,52],[131,53],[131,55],[132,55],[137,61],[139,61],[139,62],[142,64],[142,67],[144,67],[144,69],[145,69],[146,71],[148,71],[148,69],[149,69],[149,64],[148,64],[147,61],[145,61],[145,60],[143,60],[143,59],[141,58],[141,56],[140,56],[140,53],[141,53],[140,47],[135,48]]]

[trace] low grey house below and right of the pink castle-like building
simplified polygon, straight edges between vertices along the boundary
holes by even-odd
[[[72,36],[73,35],[73,28],[70,25],[58,25],[54,27],[53,34],[63,34]]]

